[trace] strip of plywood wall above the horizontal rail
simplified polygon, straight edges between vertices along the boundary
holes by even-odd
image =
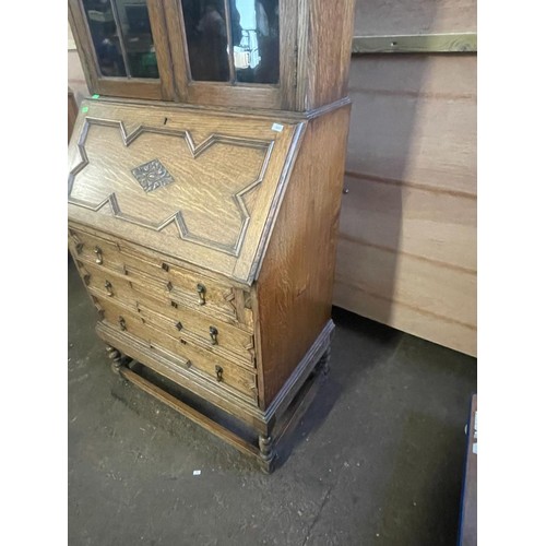
[[[476,32],[477,0],[358,0],[355,36]]]

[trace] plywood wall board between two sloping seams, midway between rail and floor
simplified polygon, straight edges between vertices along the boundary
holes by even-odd
[[[345,177],[340,237],[476,271],[476,199]]]

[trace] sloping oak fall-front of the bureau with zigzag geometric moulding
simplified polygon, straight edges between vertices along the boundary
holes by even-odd
[[[69,147],[69,217],[250,284],[300,124],[85,105]],[[157,161],[167,182],[146,191],[134,171]]]

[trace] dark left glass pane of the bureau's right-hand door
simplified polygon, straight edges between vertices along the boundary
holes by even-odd
[[[228,82],[227,25],[224,0],[181,0],[191,76]]]

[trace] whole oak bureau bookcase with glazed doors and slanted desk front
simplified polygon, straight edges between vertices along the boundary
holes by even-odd
[[[353,10],[69,1],[94,93],[69,249],[96,332],[117,373],[268,472],[328,371]]]

